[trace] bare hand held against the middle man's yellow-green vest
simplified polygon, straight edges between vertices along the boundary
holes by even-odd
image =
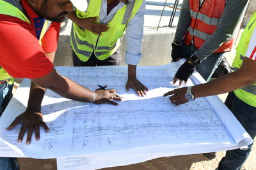
[[[94,34],[101,35],[100,32],[108,31],[108,24],[96,24],[95,21],[98,20],[98,17],[93,18],[83,18],[80,19],[76,24],[83,29],[92,31]]]

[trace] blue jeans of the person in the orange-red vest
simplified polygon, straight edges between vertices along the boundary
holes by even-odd
[[[182,57],[188,59],[193,53],[195,53],[196,48],[194,45],[185,45],[181,43]],[[196,65],[196,71],[201,74],[205,81],[209,81],[215,69],[219,66],[221,62],[221,57],[223,53],[212,53],[205,60]]]

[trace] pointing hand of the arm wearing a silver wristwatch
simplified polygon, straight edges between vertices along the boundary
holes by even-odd
[[[180,104],[184,104],[184,103],[188,102],[188,100],[185,98],[187,88],[188,87],[182,87],[180,89],[175,89],[170,92],[167,92],[163,96],[166,97],[166,96],[172,95],[171,97],[169,97],[170,101],[173,104],[178,106]]]

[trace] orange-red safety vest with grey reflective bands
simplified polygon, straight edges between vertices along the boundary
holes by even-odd
[[[224,11],[226,0],[205,0],[200,6],[200,0],[189,0],[191,23],[184,36],[184,43],[200,48],[205,40],[218,28],[218,22]],[[214,53],[230,51],[234,38],[223,43]]]

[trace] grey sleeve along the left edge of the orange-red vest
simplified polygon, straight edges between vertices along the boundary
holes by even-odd
[[[175,32],[174,41],[181,42],[186,31],[188,30],[189,24],[191,22],[191,15],[189,11],[189,0],[184,0],[182,8],[180,10],[179,22]]]

